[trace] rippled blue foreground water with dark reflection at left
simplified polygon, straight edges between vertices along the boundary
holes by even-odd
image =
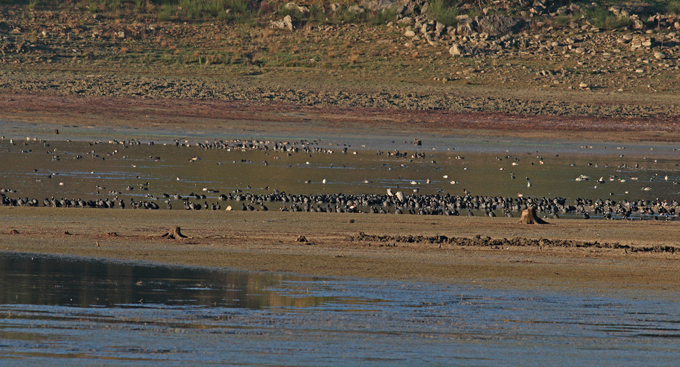
[[[678,293],[0,253],[0,364],[675,365]]]

